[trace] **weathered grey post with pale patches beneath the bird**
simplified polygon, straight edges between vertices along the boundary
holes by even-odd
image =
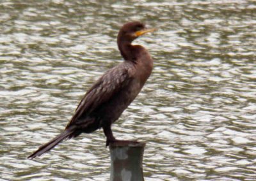
[[[143,181],[143,152],[146,143],[116,142],[109,145],[111,181]]]

